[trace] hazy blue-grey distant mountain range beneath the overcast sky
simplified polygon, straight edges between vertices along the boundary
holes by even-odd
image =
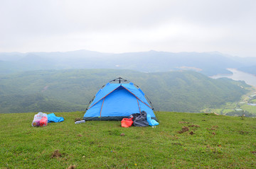
[[[129,52],[87,50],[71,52],[0,53],[0,74],[45,69],[131,69],[143,72],[193,70],[207,76],[231,74],[227,68],[256,65],[255,58],[230,57],[220,52]]]

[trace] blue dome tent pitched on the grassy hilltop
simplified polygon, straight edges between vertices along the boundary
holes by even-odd
[[[119,83],[114,83],[116,81]],[[142,111],[156,120],[142,90],[123,78],[116,78],[97,92],[83,120],[122,120]]]

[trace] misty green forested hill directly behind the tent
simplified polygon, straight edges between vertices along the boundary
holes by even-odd
[[[0,76],[0,112],[85,110],[105,83],[120,76],[140,86],[155,110],[161,111],[197,112],[203,107],[218,107],[239,100],[247,86],[194,71],[151,74],[113,69],[27,71]]]

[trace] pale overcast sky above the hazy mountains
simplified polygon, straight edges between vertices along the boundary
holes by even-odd
[[[0,52],[256,57],[255,0],[0,0]]]

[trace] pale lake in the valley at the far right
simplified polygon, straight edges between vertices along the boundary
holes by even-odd
[[[233,74],[217,74],[215,76],[210,76],[210,78],[231,78],[234,81],[245,81],[245,83],[256,86],[256,76],[253,74],[247,74],[243,71],[238,71],[237,69],[227,69]]]

